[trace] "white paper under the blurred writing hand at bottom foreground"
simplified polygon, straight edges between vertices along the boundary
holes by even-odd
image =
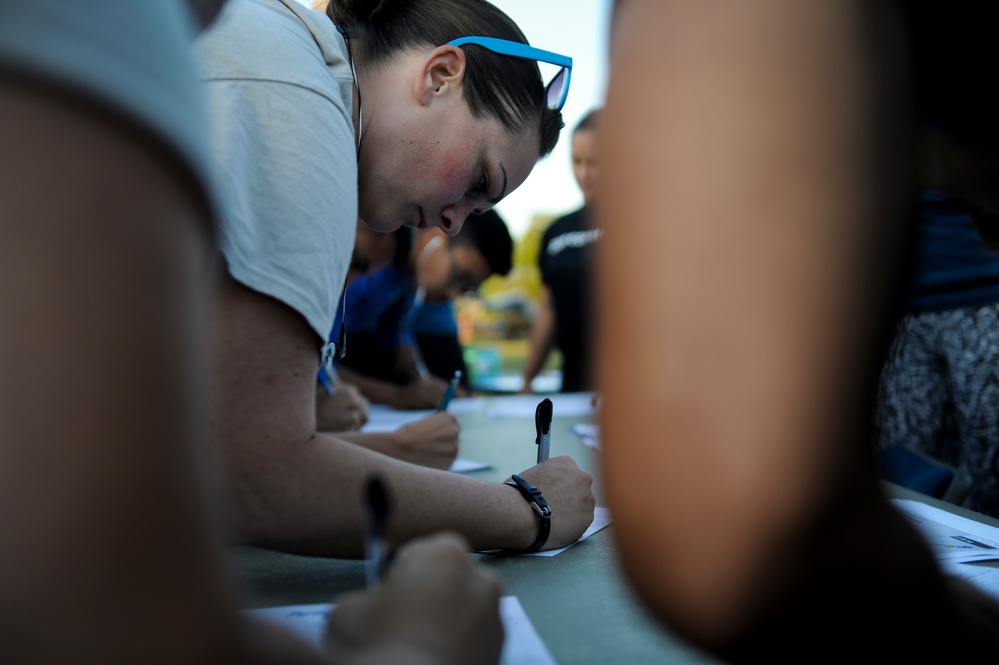
[[[285,605],[244,610],[262,621],[270,621],[284,626],[291,632],[319,647],[322,644],[326,620],[335,605],[317,603],[312,605]],[[548,647],[541,640],[534,624],[524,612],[516,596],[500,598],[500,618],[506,637],[500,654],[501,665],[556,665]]]

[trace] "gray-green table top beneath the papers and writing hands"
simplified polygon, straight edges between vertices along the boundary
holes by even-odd
[[[502,481],[534,463],[537,447],[533,418],[494,419],[485,413],[463,413],[459,420],[462,427],[459,456],[492,465],[471,475]],[[573,424],[588,420],[560,418],[556,406],[551,454],[571,455],[593,474],[597,504],[605,505],[598,473],[600,453],[587,448],[572,432]],[[902,488],[889,489],[896,496],[926,500],[983,519],[977,513]],[[994,520],[990,523],[997,525]],[[644,610],[623,579],[613,539],[612,524],[550,558],[470,556],[500,574],[506,593],[519,598],[548,649],[562,665],[718,663],[671,636]],[[246,590],[245,607],[335,602],[338,595],[364,586],[364,566],[360,561],[303,557],[256,547],[234,548],[231,554]]]

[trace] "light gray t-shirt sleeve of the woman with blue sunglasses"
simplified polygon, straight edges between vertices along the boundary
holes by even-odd
[[[346,45],[295,0],[229,0],[198,39],[229,273],[325,342],[357,224]]]

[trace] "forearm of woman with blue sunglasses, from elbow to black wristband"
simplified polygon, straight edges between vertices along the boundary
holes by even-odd
[[[477,550],[530,545],[533,512],[501,483],[409,464],[329,434],[272,454],[230,460],[239,487],[241,540],[303,554],[363,554],[361,497],[378,474],[389,487],[390,540],[399,544],[440,530],[464,535]]]

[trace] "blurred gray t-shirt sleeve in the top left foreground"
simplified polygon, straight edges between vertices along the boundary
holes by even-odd
[[[194,31],[180,0],[0,0],[0,79],[58,90],[138,129],[214,209]]]

